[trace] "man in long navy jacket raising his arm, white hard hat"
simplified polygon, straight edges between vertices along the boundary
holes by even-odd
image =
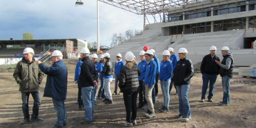
[[[53,51],[51,67],[45,63],[37,61],[40,70],[47,74],[44,97],[51,97],[54,109],[57,111],[57,122],[53,127],[63,127],[66,124],[67,112],[65,100],[67,98],[68,69],[62,60],[62,53],[58,50]]]

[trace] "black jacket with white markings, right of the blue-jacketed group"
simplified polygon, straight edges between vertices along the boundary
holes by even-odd
[[[189,59],[180,59],[174,71],[174,84],[181,86],[183,84],[190,84],[190,79],[194,75],[194,68],[192,61]]]

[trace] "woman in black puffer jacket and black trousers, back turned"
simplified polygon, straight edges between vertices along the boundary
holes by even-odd
[[[118,87],[123,93],[123,101],[126,110],[126,122],[123,126],[130,127],[137,124],[137,96],[139,88],[140,71],[134,64],[134,54],[127,52],[124,56],[126,64],[120,71]]]

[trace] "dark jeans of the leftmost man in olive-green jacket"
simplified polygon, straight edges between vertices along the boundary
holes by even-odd
[[[24,119],[30,118],[30,116],[29,116],[29,95],[30,94],[32,95],[32,97],[34,99],[34,105],[33,105],[31,118],[38,117],[38,111],[39,111],[39,107],[41,105],[40,91],[27,92],[27,93],[22,92],[22,110],[23,110]]]

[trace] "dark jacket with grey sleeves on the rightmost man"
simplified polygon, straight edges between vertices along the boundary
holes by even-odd
[[[219,71],[220,76],[221,77],[222,76],[228,76],[228,77],[232,78],[233,77],[233,60],[234,60],[233,56],[230,53],[228,53],[227,55],[225,55],[223,57],[224,58],[222,59],[221,64],[226,65],[226,59],[230,58],[231,59],[231,65],[230,65],[228,70],[220,68],[220,71]]]

